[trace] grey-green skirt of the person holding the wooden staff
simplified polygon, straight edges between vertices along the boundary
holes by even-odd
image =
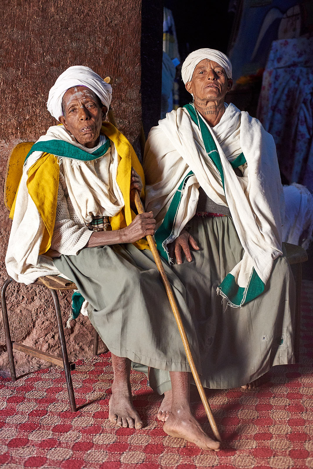
[[[178,327],[160,274],[149,250],[133,244],[82,249],[55,259],[89,302],[88,316],[109,350],[117,356],[169,371],[190,371]],[[197,336],[186,305],[186,289],[164,263],[200,367]]]

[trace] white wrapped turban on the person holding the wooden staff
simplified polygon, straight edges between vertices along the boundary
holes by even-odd
[[[67,68],[49,91],[47,109],[52,117],[58,121],[59,117],[63,115],[62,111],[62,98],[69,88],[73,86],[87,86],[89,90],[94,91],[101,99],[104,106],[109,109],[112,99],[112,87],[109,83],[99,76],[96,72],[89,67],[82,65],[74,65]]]

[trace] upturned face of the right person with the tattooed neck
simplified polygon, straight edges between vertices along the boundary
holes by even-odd
[[[194,69],[193,77],[186,83],[186,90],[193,93],[195,101],[224,100],[230,91],[232,80],[217,62],[204,59]]]

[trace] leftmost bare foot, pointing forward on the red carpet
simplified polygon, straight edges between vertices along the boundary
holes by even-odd
[[[132,397],[113,393],[109,401],[109,420],[118,427],[142,428],[141,418],[134,408]]]

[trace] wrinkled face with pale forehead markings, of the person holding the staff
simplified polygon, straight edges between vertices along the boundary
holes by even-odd
[[[59,121],[78,143],[87,148],[95,147],[107,108],[100,107],[97,95],[87,86],[67,90],[62,104],[64,116],[60,116]]]

